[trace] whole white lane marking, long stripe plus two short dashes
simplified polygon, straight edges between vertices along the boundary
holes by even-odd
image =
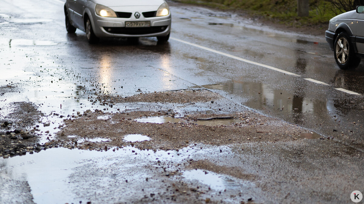
[[[230,58],[233,58],[233,59],[236,59],[236,60],[240,60],[240,61],[243,61],[243,62],[246,62],[246,63],[249,63],[249,64],[262,66],[262,67],[265,67],[265,68],[268,68],[268,69],[272,69],[272,70],[275,70],[275,71],[277,71],[277,72],[281,72],[281,73],[289,74],[289,75],[292,75],[292,76],[295,76],[295,77],[301,77],[300,75],[295,74],[295,73],[292,73],[292,72],[287,72],[287,71],[285,71],[285,70],[278,69],[278,68],[275,68],[275,67],[273,67],[273,66],[269,66],[269,65],[265,65],[265,64],[258,63],[258,62],[254,62],[254,61],[246,60],[246,59],[241,58],[241,57],[233,56],[233,55],[231,55],[231,54],[227,54],[227,53],[224,53],[224,52],[220,52],[220,51],[217,51],[217,50],[214,50],[214,49],[211,49],[211,48],[207,48],[207,47],[202,46],[202,45],[197,45],[197,44],[194,44],[194,43],[191,43],[191,42],[187,42],[187,41],[184,41],[184,40],[181,40],[181,39],[178,39],[178,38],[170,37],[170,39],[175,40],[175,41],[178,41],[178,42],[185,43],[185,44],[187,44],[187,45],[195,46],[195,47],[197,47],[197,48],[201,48],[201,49],[204,49],[204,50],[207,50],[207,51],[213,52],[213,53],[221,54],[221,55],[226,56],[226,57],[230,57]],[[311,81],[311,82],[314,82],[314,83],[318,83],[318,84],[322,84],[322,85],[325,85],[325,86],[329,86],[329,85],[328,85],[327,83],[325,83],[325,82],[317,81],[317,80],[312,79],[312,78],[305,78],[305,79],[306,79],[307,81]],[[346,90],[346,89],[342,89],[342,88],[337,88],[336,90],[343,91],[343,92],[348,93],[348,94],[361,95],[361,94],[359,94],[359,93],[356,93],[356,92],[353,92],[353,91],[349,91],[349,90]]]

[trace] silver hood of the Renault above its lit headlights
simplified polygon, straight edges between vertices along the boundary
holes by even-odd
[[[164,0],[92,0],[96,4],[102,4],[107,7],[120,6],[159,6]]]

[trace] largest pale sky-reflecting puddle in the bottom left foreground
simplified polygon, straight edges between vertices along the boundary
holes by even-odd
[[[151,165],[157,160],[181,162],[189,155],[186,152],[188,150],[191,148],[181,150],[178,152],[178,156],[175,151],[154,153],[151,150],[138,150],[134,147],[124,147],[115,152],[51,148],[39,153],[9,159],[0,158],[0,176],[7,178],[7,182],[12,182],[10,180],[27,182],[33,201],[38,204],[75,203],[75,201],[87,203],[90,201],[88,200],[90,195],[86,195],[88,190],[100,193],[99,198],[94,198],[92,203],[120,203],[120,200],[129,199],[130,201],[143,198],[144,194],[142,191],[139,192],[141,189],[137,184],[145,182],[148,171],[140,168],[141,166]],[[135,172],[136,168],[141,173]],[[125,181],[125,179],[132,182],[119,182]],[[115,181],[118,182],[115,183]],[[123,189],[123,192],[126,193],[123,195],[124,197],[126,195],[133,197],[113,198],[118,197],[117,194],[110,194],[110,188],[104,184],[113,186],[113,189]],[[162,183],[158,185],[162,185]],[[15,191],[15,189],[10,190]],[[140,193],[140,197],[135,192]],[[1,195],[1,199],[6,203],[9,197],[4,194]],[[18,203],[25,202],[19,201]]]

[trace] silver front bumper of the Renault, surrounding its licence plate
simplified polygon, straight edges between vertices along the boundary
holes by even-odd
[[[94,33],[97,37],[155,37],[166,36],[171,30],[171,15],[135,19],[94,16]],[[150,27],[126,28],[126,21],[150,21]]]

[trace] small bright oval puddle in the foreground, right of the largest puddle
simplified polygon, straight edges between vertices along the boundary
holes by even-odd
[[[185,179],[198,180],[200,183],[206,184],[216,191],[223,191],[225,189],[240,189],[242,185],[227,176],[200,169],[185,171],[182,176],[185,177]]]

